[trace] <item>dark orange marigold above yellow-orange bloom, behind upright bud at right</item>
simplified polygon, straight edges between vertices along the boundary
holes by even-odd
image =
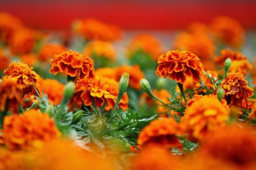
[[[224,62],[227,58],[230,58],[232,62],[247,59],[247,57],[243,56],[243,54],[240,52],[232,51],[230,49],[223,49],[221,50],[220,56],[215,58],[215,62],[220,66],[224,66]]]

